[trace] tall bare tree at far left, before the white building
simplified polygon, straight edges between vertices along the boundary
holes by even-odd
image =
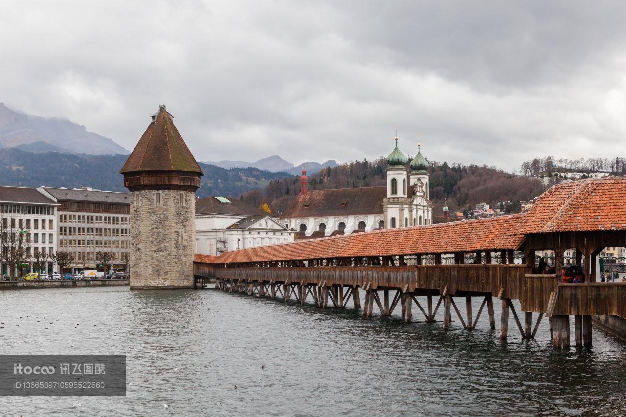
[[[4,264],[10,271],[18,269],[18,277],[21,276],[24,262],[28,260],[30,247],[29,231],[23,229],[23,219],[14,216],[3,217],[0,221],[0,255]]]

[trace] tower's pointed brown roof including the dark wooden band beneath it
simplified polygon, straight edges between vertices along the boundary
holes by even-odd
[[[152,115],[120,173],[124,174],[124,187],[131,191],[195,191],[200,187],[200,175],[204,175],[165,106],[159,106]]]

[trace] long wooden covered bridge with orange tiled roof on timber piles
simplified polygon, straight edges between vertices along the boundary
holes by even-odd
[[[626,282],[595,282],[595,258],[605,247],[620,246],[626,246],[626,179],[589,179],[555,185],[523,214],[197,254],[194,274],[200,285],[214,278],[223,291],[301,304],[308,299],[321,308],[330,301],[332,307],[362,308],[364,316],[372,316],[374,304],[381,316],[399,306],[405,322],[413,306],[426,322],[443,311],[443,329],[453,311],[465,329],[475,328],[485,307],[495,329],[497,297],[501,339],[509,314],[526,339],[546,316],[560,348],[570,345],[570,316],[577,346],[591,344],[592,316],[626,319]],[[555,252],[548,272],[538,273],[538,250]],[[584,265],[585,282],[562,282],[567,250]],[[513,264],[514,251],[525,254],[522,264]],[[444,257],[454,264],[443,265]],[[473,297],[482,299],[476,314]],[[465,301],[461,309],[459,299]],[[511,300],[520,302],[519,314]]]

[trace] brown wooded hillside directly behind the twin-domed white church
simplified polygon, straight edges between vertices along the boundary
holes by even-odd
[[[384,158],[374,162],[356,161],[326,168],[309,177],[309,188],[351,188],[385,185]],[[408,167],[408,164],[407,164]],[[523,201],[543,192],[536,179],[518,177],[495,167],[463,166],[457,163],[431,163],[429,192],[434,212],[441,213],[445,201],[450,210],[471,209],[476,203],[495,205],[501,201]],[[254,205],[268,203],[275,214],[282,213],[300,190],[300,178],[271,181],[265,190],[253,190],[242,195],[242,200]]]

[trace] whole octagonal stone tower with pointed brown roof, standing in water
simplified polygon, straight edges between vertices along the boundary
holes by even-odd
[[[131,193],[131,289],[192,288],[195,191],[204,174],[165,106],[120,173]]]

